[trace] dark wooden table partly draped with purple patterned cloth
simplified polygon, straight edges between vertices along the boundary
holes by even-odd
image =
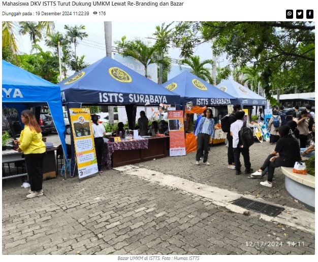
[[[152,136],[146,139],[104,142],[102,162],[107,169],[164,158],[167,152],[167,137]]]

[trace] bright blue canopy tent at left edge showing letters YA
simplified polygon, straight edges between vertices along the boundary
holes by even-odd
[[[25,108],[48,105],[67,157],[65,124],[59,86],[2,60],[2,106]]]

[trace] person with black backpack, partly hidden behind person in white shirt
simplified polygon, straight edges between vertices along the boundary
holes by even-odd
[[[240,104],[235,104],[233,106],[233,112],[230,116],[225,116],[221,119],[222,131],[227,133],[228,139],[228,168],[235,170],[234,153],[233,153],[233,137],[231,136],[230,127],[237,120],[235,113],[238,110],[242,110]]]

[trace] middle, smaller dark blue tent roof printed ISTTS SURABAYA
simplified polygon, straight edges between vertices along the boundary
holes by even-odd
[[[181,104],[192,102],[193,105],[212,106],[237,103],[237,99],[215,86],[198,78],[193,73],[183,71],[178,76],[162,84],[163,87],[180,95]]]

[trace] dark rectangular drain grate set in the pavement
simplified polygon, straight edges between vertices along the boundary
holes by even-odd
[[[249,209],[258,213],[270,215],[270,216],[277,216],[282,211],[284,211],[284,208],[282,207],[276,207],[273,205],[264,204],[264,203],[253,201],[247,198],[239,198],[237,200],[234,200],[232,204],[236,206],[244,207],[246,209]]]

